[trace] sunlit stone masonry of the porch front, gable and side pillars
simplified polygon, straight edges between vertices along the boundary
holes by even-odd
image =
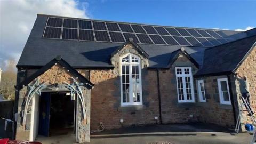
[[[28,77],[31,74],[35,73],[35,70],[28,70],[29,75],[25,74],[24,77]],[[88,77],[89,71],[88,70],[78,70],[79,73],[81,73],[83,76]],[[50,84],[63,84],[64,82],[67,83],[73,83],[73,79],[71,77],[74,77],[72,74],[69,73],[69,70],[67,70],[65,67],[62,67],[61,65],[57,64],[52,66],[52,68],[48,69],[43,73],[42,75],[38,76],[37,79],[39,79],[40,83],[46,82],[46,85]],[[74,77],[75,78],[75,77]],[[30,84],[35,83],[37,80],[35,79]],[[79,79],[77,79],[77,82],[79,83]],[[29,140],[29,134],[30,134],[30,116],[31,116],[31,102],[29,105],[28,113],[27,113],[27,119],[26,119],[26,125],[22,125],[22,110],[25,106],[25,98],[28,95],[29,87],[25,86],[19,91],[19,102],[18,102],[18,121],[17,121],[17,132],[16,132],[16,139],[17,140]],[[67,89],[67,91],[69,91]],[[86,111],[86,119],[83,120],[82,118],[82,109],[81,109],[81,102],[78,101],[78,142],[89,142],[90,141],[90,105],[91,105],[91,90],[87,90],[86,88],[83,89],[83,95],[84,95],[84,102],[85,102],[85,111]]]

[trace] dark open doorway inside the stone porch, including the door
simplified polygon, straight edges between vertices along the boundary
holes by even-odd
[[[75,132],[75,100],[69,92],[43,92],[40,96],[38,134],[44,136]]]

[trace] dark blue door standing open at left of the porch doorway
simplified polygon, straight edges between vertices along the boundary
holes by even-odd
[[[51,94],[42,93],[40,96],[39,130],[38,134],[49,136]]]

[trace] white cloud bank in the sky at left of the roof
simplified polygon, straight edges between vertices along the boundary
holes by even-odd
[[[0,1],[0,60],[18,61],[38,13],[88,18],[87,6],[76,0]]]

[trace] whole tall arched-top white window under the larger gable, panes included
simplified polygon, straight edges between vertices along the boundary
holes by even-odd
[[[140,58],[126,54],[120,58],[121,105],[142,105]]]

